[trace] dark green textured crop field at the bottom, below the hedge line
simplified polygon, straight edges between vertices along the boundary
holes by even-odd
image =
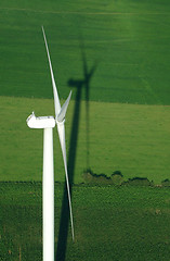
[[[1,260],[41,260],[41,184],[0,184]],[[55,185],[55,250],[63,186]],[[170,189],[74,186],[76,241],[70,226],[66,259],[168,261]],[[21,250],[19,250],[21,249]]]

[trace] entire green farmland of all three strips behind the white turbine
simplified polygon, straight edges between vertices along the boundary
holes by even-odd
[[[0,260],[42,260],[43,130],[26,124],[54,115],[42,25],[62,103],[73,90],[76,241],[55,128],[55,260],[169,261],[169,0],[0,1]],[[87,170],[155,186],[87,185]]]

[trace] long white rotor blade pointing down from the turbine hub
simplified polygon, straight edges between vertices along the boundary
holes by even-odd
[[[66,185],[67,185],[69,213],[70,213],[71,235],[73,235],[73,241],[74,241],[75,240],[75,232],[74,232],[74,219],[73,219],[73,210],[71,210],[71,201],[70,201],[70,189],[69,189],[68,172],[67,172],[67,159],[66,159],[66,145],[65,145],[65,126],[64,126],[64,122],[57,124],[57,132],[58,132],[58,136],[60,136],[62,153],[63,153],[63,161],[64,161],[64,169],[65,169],[65,175],[66,175]]]

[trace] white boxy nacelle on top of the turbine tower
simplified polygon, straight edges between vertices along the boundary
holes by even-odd
[[[32,112],[26,120],[30,128],[53,128],[55,127],[55,119],[53,116],[39,116],[36,117]]]

